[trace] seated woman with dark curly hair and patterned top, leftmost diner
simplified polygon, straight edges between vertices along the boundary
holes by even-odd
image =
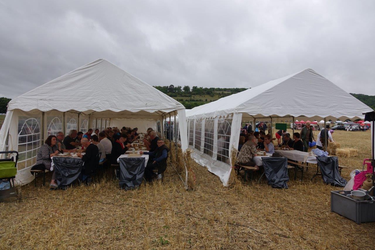
[[[43,164],[49,171],[51,171],[51,157],[63,152],[61,144],[57,145],[56,142],[56,136],[48,136],[36,155],[36,164]],[[57,187],[55,172],[52,173],[51,184],[49,185],[51,187]]]

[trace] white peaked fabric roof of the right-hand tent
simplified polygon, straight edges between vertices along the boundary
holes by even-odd
[[[356,117],[372,109],[312,69],[192,109],[189,116],[248,113],[253,117]]]

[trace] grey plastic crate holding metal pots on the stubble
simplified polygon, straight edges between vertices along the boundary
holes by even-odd
[[[357,201],[347,197],[350,191],[331,191],[331,211],[356,223],[375,221],[375,202]],[[375,197],[373,196],[375,199]]]

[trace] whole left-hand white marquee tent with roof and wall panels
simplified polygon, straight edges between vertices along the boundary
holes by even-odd
[[[20,153],[17,180],[30,182],[30,167],[46,137],[58,131],[138,127],[156,129],[166,116],[185,119],[185,108],[144,81],[104,59],[18,96],[8,104],[0,130],[0,151]],[[163,126],[160,133],[163,134]],[[186,124],[180,126],[181,147],[187,148]],[[2,155],[3,156],[3,155]]]

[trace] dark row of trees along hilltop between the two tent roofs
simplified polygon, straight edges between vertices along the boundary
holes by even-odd
[[[248,88],[204,88],[193,86],[190,89],[190,86],[153,86],[154,88],[160,90],[161,92],[171,96],[171,97],[190,97],[192,95],[209,95],[214,96],[216,95],[232,95],[234,93],[242,92]],[[222,93],[223,92],[223,93]],[[175,95],[174,95],[175,94]]]

